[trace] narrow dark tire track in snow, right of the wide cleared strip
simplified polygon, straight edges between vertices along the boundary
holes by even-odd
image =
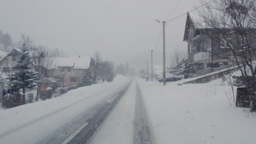
[[[148,121],[148,115],[141,89],[136,81],[135,125],[133,144],[155,144],[152,127]]]

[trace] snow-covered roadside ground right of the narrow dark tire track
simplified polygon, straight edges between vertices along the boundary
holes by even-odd
[[[157,143],[255,143],[256,115],[241,109],[220,79],[177,86],[138,80]],[[226,92],[226,94],[225,94]],[[236,92],[235,92],[236,93]]]

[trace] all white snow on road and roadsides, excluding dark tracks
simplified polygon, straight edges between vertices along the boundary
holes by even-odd
[[[36,143],[106,95],[117,92],[130,79],[118,75],[113,82],[0,110],[0,143]],[[221,79],[181,86],[178,81],[168,82],[162,86],[139,78],[133,79],[91,143],[133,143],[136,81],[156,143],[255,143],[256,114],[236,107],[231,87]]]

